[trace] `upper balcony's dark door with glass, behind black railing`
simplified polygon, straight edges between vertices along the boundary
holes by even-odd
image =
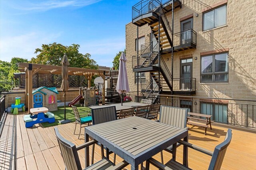
[[[193,29],[193,18],[181,21],[181,44],[191,42],[191,29]]]

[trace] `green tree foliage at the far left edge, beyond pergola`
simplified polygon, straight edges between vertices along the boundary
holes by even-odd
[[[18,63],[28,63],[28,60],[13,57],[10,62],[0,61],[0,92],[8,92],[17,84],[13,73],[20,72],[18,70]]]

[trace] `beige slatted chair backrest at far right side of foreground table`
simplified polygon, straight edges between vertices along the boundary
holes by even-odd
[[[180,128],[186,128],[188,109],[161,106],[159,122]]]

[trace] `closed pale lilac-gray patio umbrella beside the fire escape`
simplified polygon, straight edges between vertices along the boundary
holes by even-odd
[[[121,94],[126,94],[130,91],[129,83],[128,83],[128,77],[127,77],[127,70],[126,70],[126,57],[124,52],[121,53],[120,59],[119,59],[119,73],[118,78],[116,82],[116,91]],[[123,99],[121,97],[121,103],[123,106]]]

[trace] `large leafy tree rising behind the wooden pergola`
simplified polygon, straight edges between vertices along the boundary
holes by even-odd
[[[36,58],[33,57],[30,63],[61,66],[62,57],[66,53],[71,67],[98,69],[96,62],[90,59],[90,54],[83,55],[79,53],[79,47],[80,45],[78,44],[70,46],[57,43],[43,44],[41,49],[36,49],[35,54],[38,55]]]

